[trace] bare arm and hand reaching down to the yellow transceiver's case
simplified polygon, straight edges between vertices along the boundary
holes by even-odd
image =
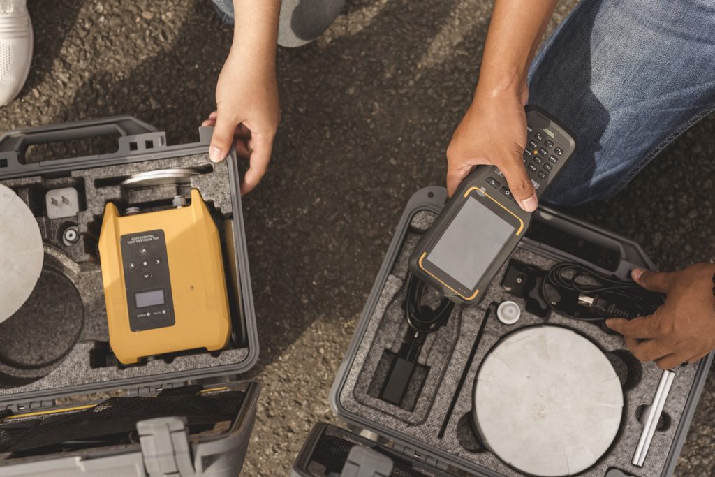
[[[216,111],[203,122],[214,126],[209,155],[218,162],[235,141],[239,157],[250,159],[241,193],[265,174],[280,122],[275,49],[280,0],[234,0],[233,44],[216,86]]]

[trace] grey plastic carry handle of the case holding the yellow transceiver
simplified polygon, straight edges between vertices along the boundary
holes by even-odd
[[[114,134],[134,136],[156,131],[157,128],[151,124],[127,115],[15,129],[0,136],[0,168],[16,169],[26,165],[25,152],[28,147],[36,144],[92,139]]]

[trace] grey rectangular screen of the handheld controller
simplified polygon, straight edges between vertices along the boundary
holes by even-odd
[[[473,290],[514,232],[506,220],[469,197],[427,260]]]

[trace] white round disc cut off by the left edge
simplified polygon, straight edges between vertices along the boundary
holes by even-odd
[[[43,260],[42,237],[34,215],[13,190],[0,185],[0,323],[30,296]]]

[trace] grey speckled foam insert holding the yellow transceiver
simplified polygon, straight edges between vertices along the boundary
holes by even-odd
[[[207,172],[192,177],[191,182],[186,185],[162,185],[137,190],[127,190],[119,186],[122,177],[137,174],[138,172],[199,166],[206,166]],[[114,180],[114,178],[119,178],[119,180]],[[159,207],[158,205],[152,205],[156,204],[157,201],[166,202],[179,192],[187,194],[189,189],[196,188],[201,192],[204,201],[209,204],[209,207],[213,205],[222,217],[230,218],[233,210],[226,161],[212,164],[207,154],[194,154],[169,159],[155,159],[149,162],[79,169],[72,172],[71,177],[47,179],[35,176],[5,180],[2,183],[15,190],[19,197],[28,203],[37,217],[45,240],[44,269],[61,273],[64,277],[69,278],[71,284],[77,289],[82,300],[82,328],[79,331],[79,336],[77,336],[76,327],[63,326],[62,323],[46,323],[44,326],[35,327],[32,332],[41,335],[35,341],[39,340],[42,343],[51,344],[76,340],[76,344],[71,347],[69,353],[64,355],[61,360],[39,368],[18,368],[0,360],[0,395],[26,391],[54,390],[73,385],[104,383],[124,378],[166,375],[177,371],[210,370],[210,368],[217,366],[242,363],[247,358],[249,351],[247,348],[232,348],[223,350],[220,354],[178,355],[170,363],[162,359],[148,360],[144,365],[134,365],[127,368],[117,366],[93,368],[89,361],[90,350],[97,345],[97,342],[106,342],[109,339],[102,273],[99,269],[99,257],[96,251],[104,206],[107,202],[119,202],[122,204],[147,202],[149,203],[147,210],[152,210],[152,207]],[[108,187],[101,187],[107,183],[110,184]],[[80,210],[77,217],[47,219],[42,213],[42,210],[44,210],[42,205],[44,191],[49,188],[66,186],[74,186],[84,190],[84,196],[87,197],[84,207],[82,207],[84,210]],[[85,240],[80,240],[80,242],[71,246],[65,246],[54,240],[53,233],[61,226],[60,222],[76,223]],[[222,227],[219,227],[219,230],[223,237]],[[227,280],[227,285],[228,283],[229,281]],[[41,303],[37,301],[32,303],[33,313],[49,316],[53,309],[56,308],[58,301],[63,300],[64,297],[42,298]],[[8,322],[13,318],[10,318]],[[6,325],[6,323],[3,323],[3,325]],[[0,333],[2,330],[4,328],[0,328]],[[75,334],[72,335],[71,333]],[[14,358],[19,363],[34,363],[37,361],[35,355],[40,351],[37,348],[18,346],[14,353],[19,353],[19,355]],[[25,385],[14,386],[12,383],[2,382],[4,374],[19,378],[39,379]]]

